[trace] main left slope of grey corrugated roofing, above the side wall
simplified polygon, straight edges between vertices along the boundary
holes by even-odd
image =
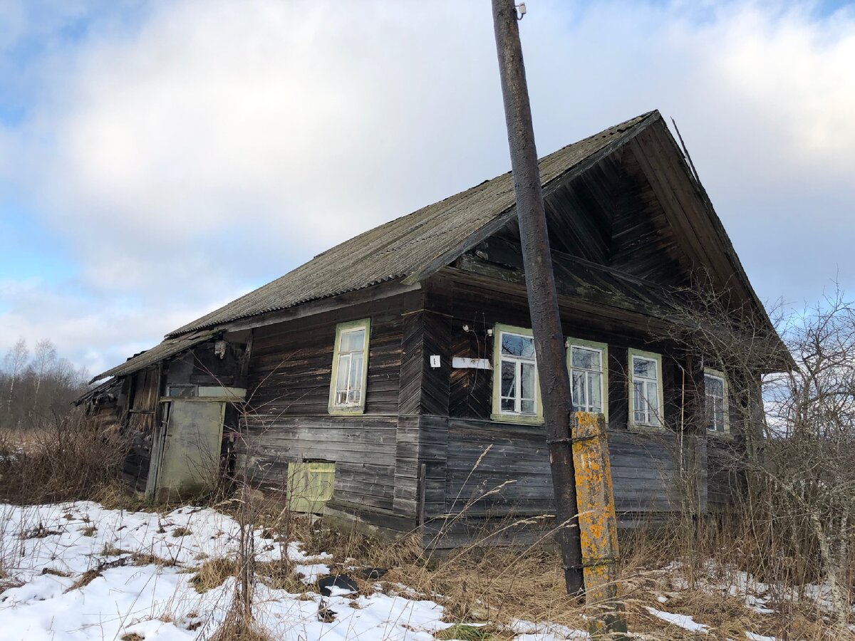
[[[656,111],[640,115],[545,156],[540,160],[541,181],[547,185],[598,151],[618,140],[631,138],[660,117]],[[281,278],[169,332],[168,336],[420,273],[431,262],[513,208],[515,203],[512,176],[510,172],[504,173],[351,238]]]

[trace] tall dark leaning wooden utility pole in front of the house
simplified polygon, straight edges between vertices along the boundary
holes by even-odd
[[[502,79],[504,119],[508,128],[510,167],[514,174],[516,215],[522,238],[528,309],[532,317],[534,350],[540,377],[540,398],[546,423],[546,443],[558,523],[557,539],[564,563],[567,592],[583,590],[579,518],[576,510],[575,471],[569,433],[570,382],[564,362],[561,316],[552,273],[549,236],[537,150],[534,147],[531,106],[514,0],[492,0],[498,69]]]

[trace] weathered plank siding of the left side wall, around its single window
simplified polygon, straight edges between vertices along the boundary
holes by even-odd
[[[289,462],[334,462],[334,506],[391,514],[405,324],[407,335],[419,332],[404,312],[421,301],[414,291],[254,329],[237,472],[285,491]],[[335,327],[363,318],[371,319],[365,413],[331,416]]]

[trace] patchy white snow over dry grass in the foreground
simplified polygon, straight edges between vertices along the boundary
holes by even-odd
[[[202,593],[192,579],[204,562],[235,555],[238,531],[231,517],[209,508],[159,515],[86,502],[0,505],[0,641],[208,638],[227,613],[234,579]],[[277,543],[262,532],[255,538],[257,561],[287,558],[303,581],[304,589],[296,590],[300,593],[257,585],[254,612],[272,638],[429,641],[451,626],[442,620],[441,605],[405,586],[399,593],[377,584],[369,596],[321,597],[315,581],[329,573],[332,557],[306,556],[299,544]],[[674,576],[677,571],[659,572]],[[728,590],[745,598],[746,610],[772,612],[766,608],[766,586],[752,585],[746,576],[740,581],[745,585]],[[646,606],[646,612],[666,630],[711,632],[691,616],[667,612],[665,593],[656,598],[657,607]],[[320,620],[321,608],[332,610],[334,617]],[[580,630],[523,620],[504,630],[516,641],[589,638]],[[633,636],[669,638],[667,632]],[[749,632],[745,638],[774,641]]]

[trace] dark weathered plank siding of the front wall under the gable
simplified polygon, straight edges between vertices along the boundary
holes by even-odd
[[[451,312],[450,338],[445,346],[435,347],[443,362],[451,362],[453,356],[492,361],[493,338],[487,336],[487,329],[496,323],[531,326],[528,303],[520,286],[495,279],[472,279],[463,270],[446,269],[443,274],[446,291],[451,291],[451,305],[445,305],[445,311]],[[630,322],[631,316],[627,315],[617,320],[604,318],[609,314],[608,309],[589,313],[566,301],[561,312],[565,336],[609,345],[611,470],[616,509],[624,524],[634,522],[642,514],[681,509],[674,463],[679,460],[681,447],[686,467],[696,470],[695,494],[705,509],[705,435],[687,438],[679,444],[674,433],[681,417],[681,403],[696,402],[689,389],[694,389],[691,377],[697,375],[697,363],[675,353],[674,345],[668,344],[667,339],[654,338],[656,334],[638,315],[635,322]],[[463,326],[469,326],[469,331]],[[637,432],[628,428],[629,348],[663,356],[663,416],[669,428],[664,432]],[[684,370],[688,379],[684,379]],[[448,418],[422,415],[420,422],[419,462],[427,463],[429,470],[425,509],[428,517],[463,511],[463,521],[469,525],[463,527],[456,521],[456,533],[439,544],[459,543],[468,536],[460,527],[477,529],[483,519],[551,512],[553,493],[545,428],[490,419],[491,370],[451,369],[448,380]],[[442,476],[445,487],[440,489],[438,482]]]

